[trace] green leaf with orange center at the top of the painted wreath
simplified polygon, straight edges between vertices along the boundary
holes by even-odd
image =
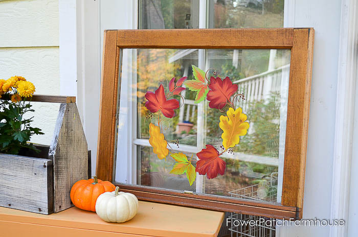
[[[192,68],[195,80],[188,80],[184,84],[189,90],[196,92],[195,103],[199,103],[205,99],[209,92],[209,87],[205,80],[204,71],[194,65],[192,65]]]

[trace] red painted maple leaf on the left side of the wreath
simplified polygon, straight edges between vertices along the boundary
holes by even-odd
[[[152,113],[160,110],[164,116],[172,118],[175,115],[174,109],[179,108],[178,100],[167,100],[162,84],[157,90],[155,90],[155,93],[152,91],[147,91],[147,93],[145,93],[145,98],[148,100],[145,103],[145,107],[147,107],[147,109],[149,109],[149,111]]]

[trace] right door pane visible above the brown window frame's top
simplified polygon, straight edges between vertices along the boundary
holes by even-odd
[[[284,0],[208,0],[207,28],[283,27]]]

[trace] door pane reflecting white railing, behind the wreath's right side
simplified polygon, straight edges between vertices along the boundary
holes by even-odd
[[[289,60],[289,50],[206,51],[206,68],[214,68],[220,78],[229,77],[244,96],[244,100],[238,98],[234,103],[248,115],[251,126],[233,151],[279,157],[280,135],[285,134],[280,121],[285,123],[286,118]],[[205,107],[205,144],[220,146],[222,130],[218,129],[217,118],[225,115],[227,108],[211,109],[208,102]]]

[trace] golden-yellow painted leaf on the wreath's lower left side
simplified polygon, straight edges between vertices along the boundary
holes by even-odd
[[[152,123],[149,124],[149,143],[153,147],[153,152],[159,159],[162,160],[169,154],[164,134],[161,133],[159,126],[155,126]]]

